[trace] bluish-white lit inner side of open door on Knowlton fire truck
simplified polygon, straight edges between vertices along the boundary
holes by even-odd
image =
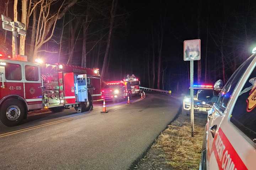
[[[76,78],[77,85],[77,99],[78,102],[87,102],[88,98],[88,89],[87,89],[87,80],[86,74],[78,75]]]

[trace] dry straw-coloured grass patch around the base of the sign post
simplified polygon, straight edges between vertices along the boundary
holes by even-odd
[[[196,117],[195,117],[196,119]],[[205,117],[194,125],[191,137],[190,119],[180,115],[161,133],[153,147],[161,148],[166,163],[175,169],[194,170],[199,168]]]

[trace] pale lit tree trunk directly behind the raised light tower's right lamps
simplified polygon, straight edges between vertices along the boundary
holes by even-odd
[[[27,0],[22,0],[22,14],[21,14],[21,22],[25,24],[27,23]],[[20,55],[25,55],[25,40],[26,35],[20,35]]]

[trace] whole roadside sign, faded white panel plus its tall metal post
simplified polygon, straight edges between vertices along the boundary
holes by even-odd
[[[184,61],[190,61],[190,119],[192,137],[194,137],[194,60],[200,60],[200,51],[200,39],[184,41]]]

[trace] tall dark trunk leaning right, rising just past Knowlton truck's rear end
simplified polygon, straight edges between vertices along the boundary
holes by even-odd
[[[111,16],[110,29],[109,29],[108,39],[107,39],[106,52],[105,52],[105,56],[104,56],[104,60],[103,60],[103,66],[101,69],[101,81],[104,78],[106,66],[107,66],[107,62],[108,62],[108,52],[110,50],[110,40],[111,40],[112,30],[113,30],[113,26],[114,26],[114,16],[116,13],[116,6],[117,6],[117,0],[112,0],[112,6],[111,6],[111,11],[110,11],[110,16]]]

